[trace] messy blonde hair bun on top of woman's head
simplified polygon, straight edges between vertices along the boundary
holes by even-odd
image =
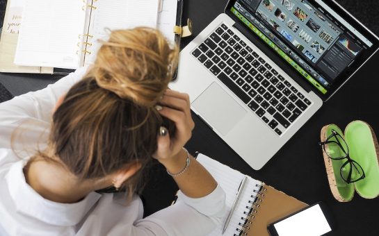
[[[89,76],[97,85],[141,106],[154,106],[177,66],[178,49],[153,28],[111,31]]]

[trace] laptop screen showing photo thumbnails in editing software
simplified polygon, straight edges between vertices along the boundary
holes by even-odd
[[[228,7],[324,98],[378,47],[378,39],[346,12],[321,0],[236,0]]]

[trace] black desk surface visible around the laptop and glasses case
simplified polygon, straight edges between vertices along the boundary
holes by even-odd
[[[371,31],[379,34],[378,1],[338,0],[338,2]],[[190,17],[193,20],[194,36],[200,33],[220,12],[223,12],[226,3],[226,0],[186,1],[184,17]],[[3,0],[0,0],[0,6],[5,7]],[[0,19],[2,18],[0,10]],[[185,39],[184,46],[190,40],[191,38]],[[251,169],[197,117],[193,117],[196,127],[192,139],[188,142],[188,150],[209,155],[305,203],[324,201],[330,206],[337,219],[337,230],[332,235],[377,236],[379,235],[379,199],[362,199],[355,194],[353,201],[337,202],[330,192],[321,149],[317,142],[324,125],[334,123],[344,129],[350,121],[355,119],[368,122],[376,130],[377,135],[379,134],[379,80],[377,71],[374,71],[378,65],[377,53],[259,171]],[[45,87],[58,78],[60,77],[49,75],[0,74],[0,83],[3,83],[14,95],[19,95]],[[168,205],[172,199],[172,193],[175,192],[175,184],[164,174],[164,171],[157,169],[158,171],[152,174],[159,177],[154,178],[150,183],[152,187],[145,190],[147,213]]]

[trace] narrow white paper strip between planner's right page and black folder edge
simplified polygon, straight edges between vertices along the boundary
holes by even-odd
[[[162,10],[158,15],[158,28],[171,44],[175,44],[175,34],[172,32],[177,23],[177,0],[161,0],[163,1]]]

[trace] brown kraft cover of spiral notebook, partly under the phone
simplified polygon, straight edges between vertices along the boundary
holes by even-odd
[[[266,189],[266,190],[265,190]],[[293,212],[297,212],[307,206],[306,203],[288,196],[269,185],[263,185],[261,194],[257,201],[259,207],[255,206],[257,212],[252,212],[250,222],[245,222],[245,233],[254,236],[269,236],[268,224],[271,224]],[[254,218],[254,219],[252,219]]]

